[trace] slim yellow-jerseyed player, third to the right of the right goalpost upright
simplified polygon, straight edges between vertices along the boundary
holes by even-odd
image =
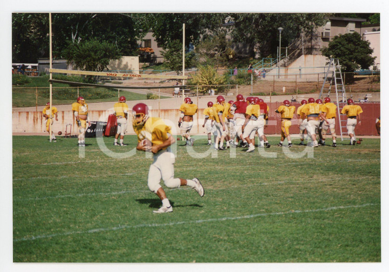
[[[226,150],[223,146],[224,138],[226,137],[227,134],[226,125],[224,124],[224,118],[223,118],[225,99],[223,96],[218,96],[216,98],[216,101],[217,102],[212,106],[212,110],[213,110],[212,124],[215,125],[215,132],[217,133],[215,139],[215,149]]]

